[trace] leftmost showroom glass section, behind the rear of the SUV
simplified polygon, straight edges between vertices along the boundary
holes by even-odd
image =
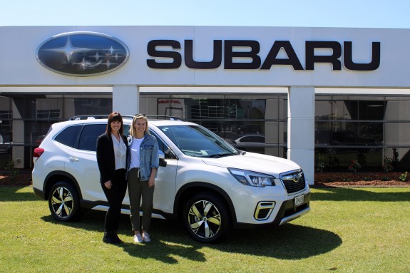
[[[0,108],[0,168],[11,153],[24,154],[24,168],[32,168],[34,148],[51,124],[73,115],[110,113],[112,96],[12,94],[0,96]]]

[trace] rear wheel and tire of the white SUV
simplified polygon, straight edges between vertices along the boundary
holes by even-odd
[[[48,195],[51,215],[58,221],[68,222],[81,216],[80,198],[76,189],[68,182],[57,182]]]

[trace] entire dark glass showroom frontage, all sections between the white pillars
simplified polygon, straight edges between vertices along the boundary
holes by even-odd
[[[409,166],[410,97],[316,96],[315,154],[323,171],[381,171],[396,157],[395,170]],[[0,168],[11,147],[24,148],[24,168],[52,123],[73,115],[108,114],[111,94],[0,96]],[[286,158],[287,94],[140,93],[140,112],[199,123],[241,150]],[[393,150],[396,149],[396,150]],[[396,153],[394,153],[394,151]]]

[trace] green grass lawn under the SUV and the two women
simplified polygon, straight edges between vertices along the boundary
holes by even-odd
[[[410,272],[410,187],[315,188],[312,211],[219,244],[153,220],[152,242],[102,242],[104,212],[56,222],[31,187],[0,187],[0,272]]]

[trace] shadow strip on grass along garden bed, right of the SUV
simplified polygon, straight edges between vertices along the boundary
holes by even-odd
[[[312,201],[410,201],[410,192],[408,190],[401,190],[406,188],[386,188],[389,190],[384,190],[383,192],[375,192],[369,188],[361,190],[359,187],[319,187],[317,189],[317,192],[312,192]]]

